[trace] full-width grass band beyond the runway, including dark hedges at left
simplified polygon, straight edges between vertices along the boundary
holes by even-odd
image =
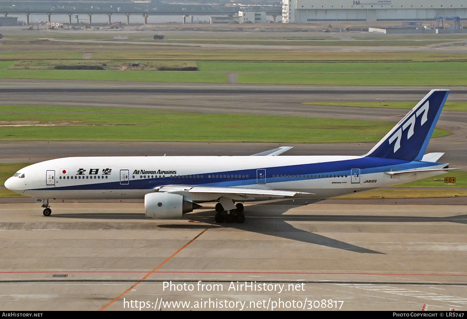
[[[465,62],[203,62],[190,60],[144,61],[149,70],[52,70],[52,65],[99,64],[106,68],[127,65],[122,60],[21,60],[1,61],[0,78],[226,83],[224,72],[238,72],[239,83],[319,85],[467,85]],[[200,71],[154,71],[159,66],[196,66]],[[10,68],[6,70],[6,68]],[[19,68],[19,70],[12,70]],[[26,69],[21,69],[26,68]],[[39,68],[39,69],[29,69]],[[455,74],[454,74],[455,73]]]

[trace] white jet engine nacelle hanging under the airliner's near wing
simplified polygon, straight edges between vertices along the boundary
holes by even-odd
[[[200,207],[184,201],[183,195],[172,193],[149,193],[144,195],[144,213],[151,219],[181,218],[183,214]]]

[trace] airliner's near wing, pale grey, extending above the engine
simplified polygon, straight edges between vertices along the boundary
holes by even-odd
[[[294,197],[297,194],[312,194],[304,192],[291,192],[276,189],[261,189],[261,188],[246,188],[246,187],[212,187],[212,186],[193,186],[193,185],[166,185],[157,187],[155,190],[159,192],[177,193],[186,192],[189,193],[207,193],[207,194],[219,194],[222,195],[239,195],[239,196],[250,196],[250,197]]]

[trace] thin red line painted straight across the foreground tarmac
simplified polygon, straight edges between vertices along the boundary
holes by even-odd
[[[34,274],[34,273],[147,273],[147,271],[1,271],[0,274]],[[275,272],[275,271],[151,271],[151,274],[264,274],[264,275],[378,275],[378,276],[459,276],[459,274],[390,274],[361,272]]]

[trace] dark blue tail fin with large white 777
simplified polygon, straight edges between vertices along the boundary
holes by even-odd
[[[448,94],[449,90],[431,90],[363,156],[421,160]]]

